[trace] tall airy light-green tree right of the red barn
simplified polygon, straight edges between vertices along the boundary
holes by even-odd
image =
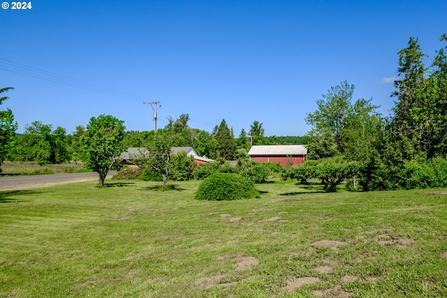
[[[331,87],[323,99],[316,100],[318,110],[308,113],[305,119],[312,125],[307,142],[309,158],[344,154],[362,160],[370,155],[381,127],[381,116],[372,100],[361,98],[352,103],[353,91],[354,85],[345,81]]]

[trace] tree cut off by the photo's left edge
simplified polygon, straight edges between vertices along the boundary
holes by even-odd
[[[0,94],[10,90],[13,90],[13,88],[2,88]],[[7,99],[8,96],[0,97],[0,105]],[[13,112],[10,109],[0,111],[0,165],[8,154],[10,142],[15,137],[15,131],[17,131],[17,123],[14,121]]]

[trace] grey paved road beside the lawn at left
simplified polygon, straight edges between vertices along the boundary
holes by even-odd
[[[116,171],[108,172],[107,178],[114,174]],[[0,191],[15,191],[97,179],[98,173],[96,172],[0,177]]]

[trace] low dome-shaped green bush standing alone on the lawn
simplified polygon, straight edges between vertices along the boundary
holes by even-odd
[[[260,198],[253,181],[231,173],[212,174],[202,181],[196,192],[198,200],[242,200]]]

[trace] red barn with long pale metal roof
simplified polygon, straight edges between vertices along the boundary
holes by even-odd
[[[299,165],[305,161],[307,148],[303,145],[265,145],[253,146],[249,153],[250,161],[270,162],[280,165]]]

